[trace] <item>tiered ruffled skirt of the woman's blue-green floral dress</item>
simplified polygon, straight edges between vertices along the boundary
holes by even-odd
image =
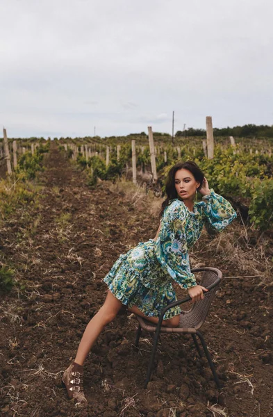
[[[166,274],[154,253],[154,240],[119,256],[104,278],[115,297],[129,307],[137,306],[145,316],[159,317],[167,304],[176,300],[172,278]],[[181,313],[179,306],[165,313],[165,320]]]

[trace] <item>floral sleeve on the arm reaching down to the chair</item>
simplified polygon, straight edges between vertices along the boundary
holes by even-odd
[[[195,275],[190,272],[186,226],[188,212],[184,204],[174,202],[167,208],[156,240],[156,256],[163,268],[181,288],[196,286]]]

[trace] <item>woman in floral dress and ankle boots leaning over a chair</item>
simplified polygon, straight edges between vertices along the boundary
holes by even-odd
[[[197,191],[203,201],[195,202]],[[69,398],[86,403],[83,393],[83,362],[104,327],[122,304],[129,311],[158,322],[164,306],[176,300],[172,279],[188,290],[192,302],[204,298],[206,288],[197,285],[190,272],[188,250],[201,235],[204,224],[220,231],[236,217],[231,204],[208,188],[208,181],[196,163],[176,163],[166,183],[167,198],[162,204],[160,225],[154,239],[129,250],[108,272],[104,281],[108,293],[104,305],[85,329],[75,360],[63,374]],[[179,306],[165,313],[163,325],[179,325]]]

